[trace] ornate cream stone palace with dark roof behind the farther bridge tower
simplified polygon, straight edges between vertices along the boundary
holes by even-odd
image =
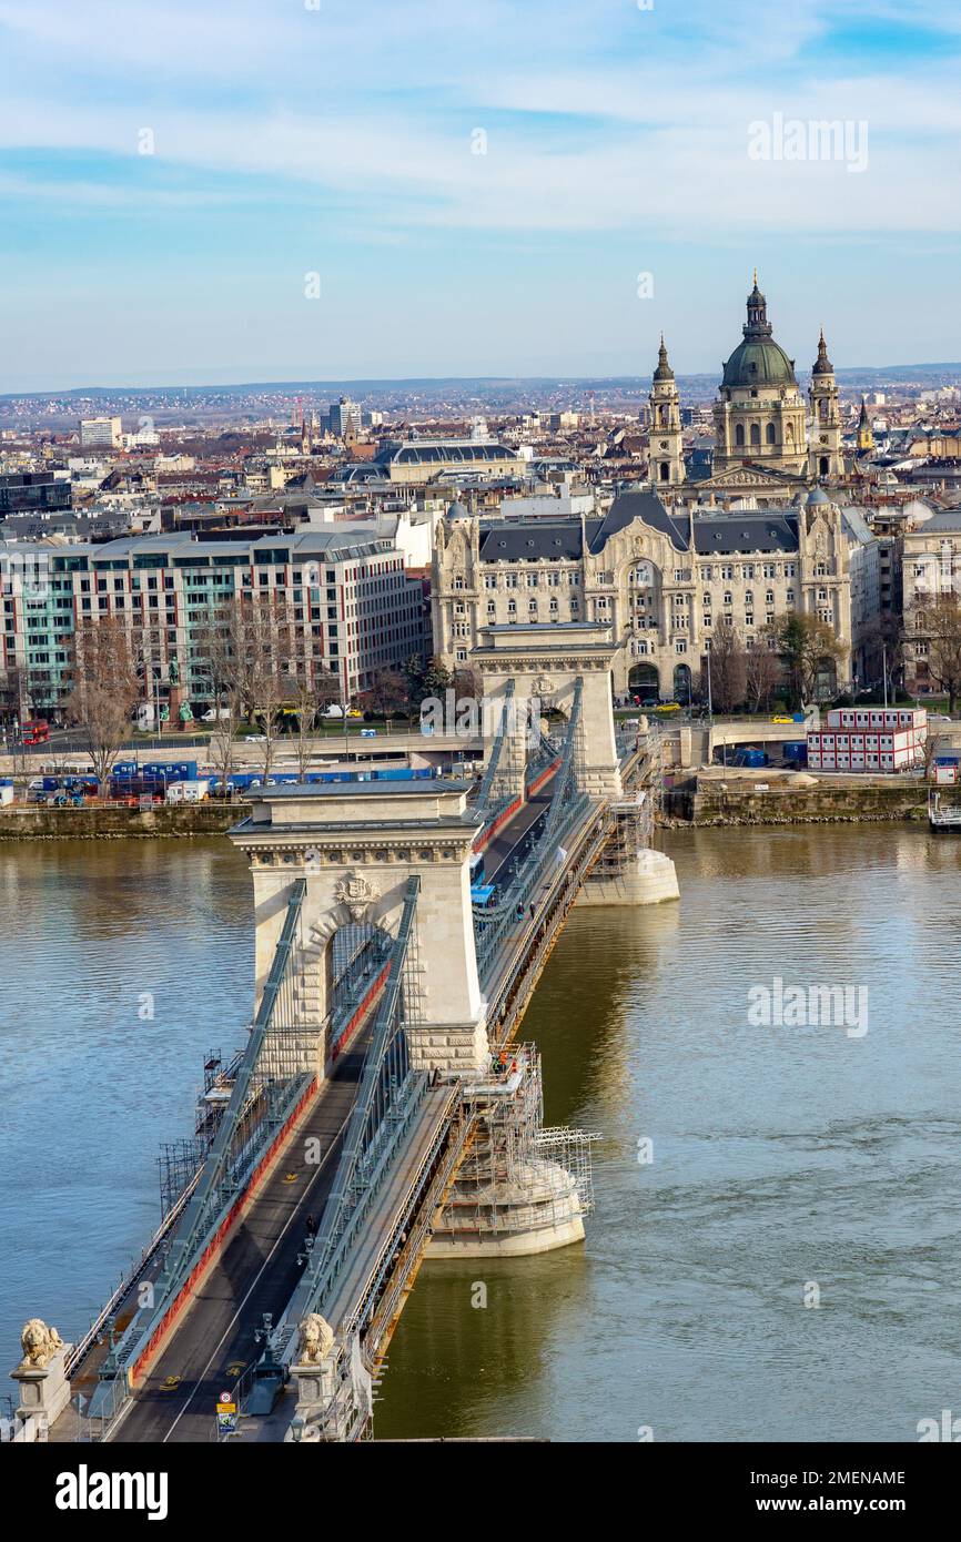
[[[879,546],[861,513],[805,490],[787,509],[665,507],[617,497],[605,515],[478,518],[452,504],[437,529],[433,646],[469,663],[484,626],[606,621],[619,692],[686,695],[719,621],[750,648],[788,611],[827,621],[844,646],[838,683],[865,678],[879,606]]]

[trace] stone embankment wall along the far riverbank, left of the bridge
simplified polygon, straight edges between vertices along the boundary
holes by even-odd
[[[250,803],[159,803],[156,808],[0,808],[0,840],[122,840],[130,836],[219,836],[250,813]]]

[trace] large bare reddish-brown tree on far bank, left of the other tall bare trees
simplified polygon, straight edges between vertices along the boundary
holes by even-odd
[[[94,776],[103,790],[140,697],[126,628],[119,617],[103,615],[79,625],[69,674],[66,720],[86,740]]]

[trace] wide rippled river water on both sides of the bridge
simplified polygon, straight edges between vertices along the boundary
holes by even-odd
[[[588,1240],[424,1266],[381,1437],[915,1440],[958,1406],[961,842],[666,850],[680,904],[575,911],[524,1022],[546,1121],[600,1135]],[[0,902],[12,1366],[26,1317],[74,1337],[153,1231],[159,1143],[244,1038],[251,908],[225,840],[5,843]]]

